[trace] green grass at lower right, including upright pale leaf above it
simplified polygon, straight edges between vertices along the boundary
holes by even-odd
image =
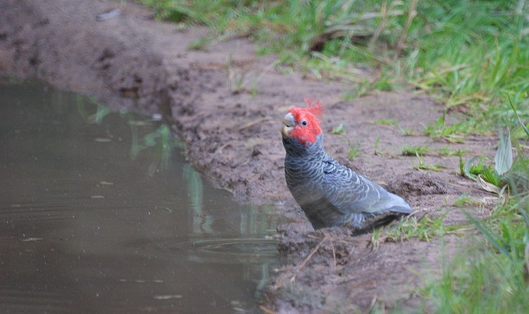
[[[527,130],[522,121],[519,123]],[[525,133],[529,136],[528,131]],[[487,166],[483,159],[475,166],[468,162],[463,165],[466,176],[483,178],[493,186],[504,188],[495,191],[500,194],[500,202],[487,219],[476,219],[466,213],[479,236],[465,252],[451,262],[444,262],[440,280],[432,279],[422,289],[425,311],[434,308],[436,313],[528,312],[529,167],[519,145],[518,156],[515,160],[512,158],[511,138],[506,129],[500,131],[494,167]],[[490,185],[482,188],[488,191]],[[480,203],[463,194],[454,205],[481,207]]]

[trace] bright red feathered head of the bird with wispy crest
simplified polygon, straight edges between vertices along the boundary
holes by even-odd
[[[320,101],[312,104],[310,99],[305,98],[307,108],[292,108],[283,119],[281,135],[285,140],[295,138],[300,144],[306,146],[315,143],[317,135],[322,133],[319,116],[323,114],[323,106]]]

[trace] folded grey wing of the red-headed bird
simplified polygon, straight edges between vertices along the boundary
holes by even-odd
[[[355,171],[344,167],[332,157],[326,159],[324,169],[327,199],[343,214],[384,212],[410,213],[411,207],[401,197]]]

